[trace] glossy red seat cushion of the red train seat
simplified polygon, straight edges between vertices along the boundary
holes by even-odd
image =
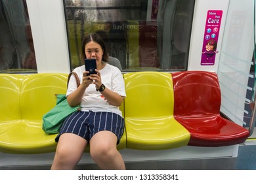
[[[220,115],[187,118],[175,116],[190,132],[190,146],[230,146],[244,142],[249,131]]]

